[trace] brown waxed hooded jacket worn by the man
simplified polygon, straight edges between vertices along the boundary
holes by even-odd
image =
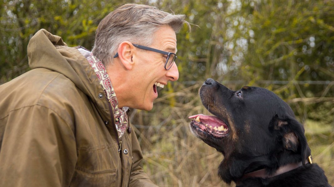
[[[109,102],[86,58],[43,29],[28,58],[32,70],[0,85],[0,186],[156,187],[139,166],[133,131],[120,156]]]

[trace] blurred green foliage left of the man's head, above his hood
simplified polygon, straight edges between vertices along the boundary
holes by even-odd
[[[122,0],[3,0],[0,9],[0,84],[27,71],[27,45],[39,30],[61,36],[69,46],[94,45],[95,30]]]

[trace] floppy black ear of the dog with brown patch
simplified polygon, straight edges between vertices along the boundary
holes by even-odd
[[[293,117],[279,118],[275,115],[269,128],[278,131],[282,137],[283,147],[296,153],[300,153],[302,160],[306,159],[307,141],[304,135],[304,127]]]

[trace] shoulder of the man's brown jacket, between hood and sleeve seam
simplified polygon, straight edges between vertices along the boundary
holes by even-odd
[[[0,119],[10,111],[33,105],[66,116],[78,98],[85,98],[70,79],[45,68],[32,69],[1,85],[0,94]]]

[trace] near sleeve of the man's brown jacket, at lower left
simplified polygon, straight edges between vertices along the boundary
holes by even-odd
[[[11,111],[2,125],[0,186],[69,186],[77,154],[68,122],[33,105]]]

